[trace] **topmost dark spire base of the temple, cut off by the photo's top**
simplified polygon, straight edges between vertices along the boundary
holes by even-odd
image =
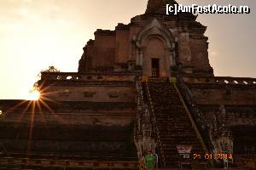
[[[175,0],[148,0],[146,14],[165,14],[166,4],[175,4]]]

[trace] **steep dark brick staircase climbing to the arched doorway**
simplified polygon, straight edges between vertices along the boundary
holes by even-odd
[[[168,78],[149,79],[147,84],[163,167],[177,167],[177,145],[189,144],[192,152],[201,152],[201,142],[174,84]]]

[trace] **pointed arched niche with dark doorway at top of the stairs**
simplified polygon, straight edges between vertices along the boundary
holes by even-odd
[[[158,52],[154,52],[155,50]],[[159,76],[171,77],[170,67],[175,65],[174,38],[165,26],[154,19],[136,38],[136,63],[143,68],[143,76],[152,76],[157,59]]]

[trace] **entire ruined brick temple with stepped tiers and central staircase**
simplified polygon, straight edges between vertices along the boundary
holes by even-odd
[[[0,100],[0,167],[138,169],[147,150],[163,168],[255,159],[256,78],[214,77],[207,26],[166,3],[96,30],[78,72],[42,73],[40,100]]]

